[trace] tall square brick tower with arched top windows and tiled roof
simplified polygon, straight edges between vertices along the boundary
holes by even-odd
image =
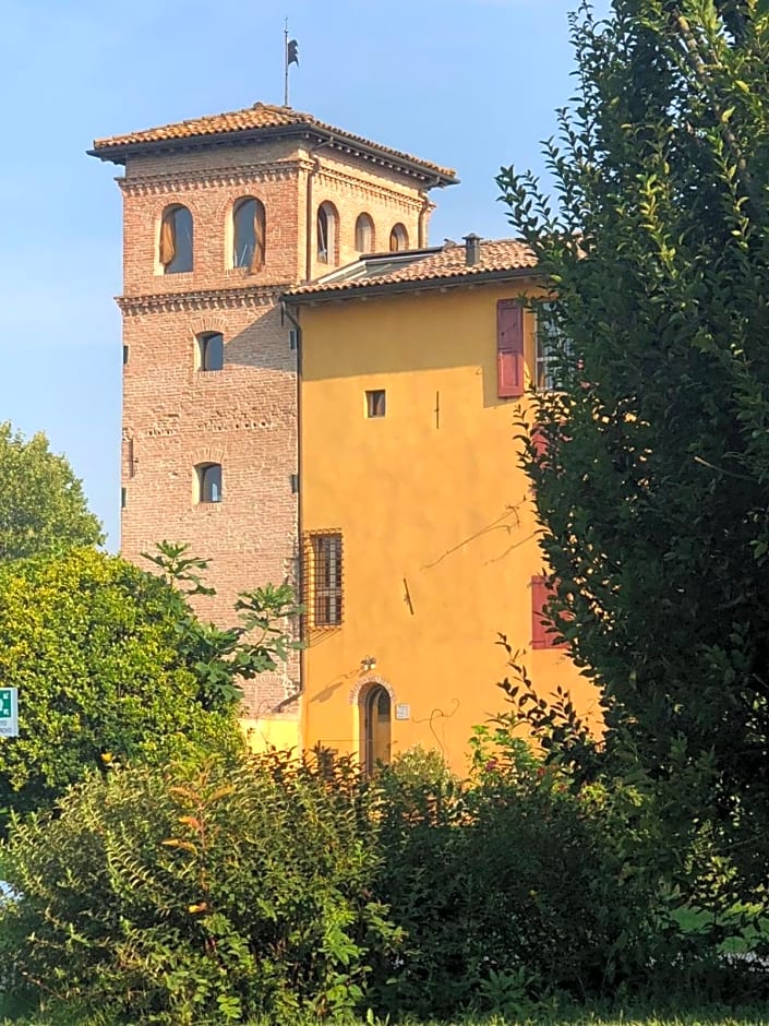
[[[296,583],[297,360],[280,295],[363,252],[426,246],[446,168],[290,107],[100,139],[125,168],[121,549],[188,541],[212,561],[205,615]],[[329,453],[333,460],[334,454]],[[249,719],[286,708],[299,666],[260,678]]]

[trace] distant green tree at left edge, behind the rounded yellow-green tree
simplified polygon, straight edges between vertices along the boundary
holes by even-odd
[[[81,482],[41,432],[27,440],[0,423],[0,561],[104,541]]]

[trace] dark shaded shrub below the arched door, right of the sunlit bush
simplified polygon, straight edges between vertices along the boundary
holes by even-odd
[[[506,725],[476,736],[469,782],[426,766],[381,774],[380,896],[406,931],[371,1000],[418,1015],[506,1011],[505,992],[602,993],[642,973],[659,926],[656,881],[624,861],[629,790],[568,777]],[[389,980],[389,982],[387,982]],[[500,1007],[502,1005],[502,1007]]]

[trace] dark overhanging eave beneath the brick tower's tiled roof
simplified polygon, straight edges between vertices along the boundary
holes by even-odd
[[[100,160],[124,166],[130,156],[139,156],[146,153],[163,153],[168,150],[200,150],[204,146],[237,146],[254,140],[297,135],[315,138],[319,142],[336,145],[338,150],[363,156],[370,160],[375,160],[379,164],[399,170],[410,177],[419,178],[421,181],[425,182],[428,189],[454,186],[459,182],[456,175],[447,168],[433,168],[430,165],[422,164],[421,160],[410,160],[407,156],[400,157],[388,153],[386,150],[380,150],[375,145],[369,145],[365,142],[352,139],[345,132],[333,132],[331,129],[302,122],[295,124],[277,124],[269,128],[239,129],[233,132],[215,132],[209,135],[201,134],[153,140],[149,142],[117,143],[111,146],[107,143],[101,146],[95,143],[92,150],[86,150],[86,154],[89,157],[97,157]]]

